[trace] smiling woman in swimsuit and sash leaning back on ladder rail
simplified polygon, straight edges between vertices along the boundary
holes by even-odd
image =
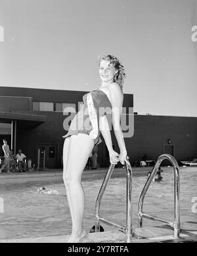
[[[103,55],[99,58],[99,76],[100,87],[83,95],[83,109],[72,120],[70,129],[64,136],[66,139],[63,149],[63,179],[72,217],[72,234],[68,243],[81,242],[86,236],[83,228],[85,194],[81,185],[81,174],[93,147],[100,143],[100,132],[108,148],[110,163],[117,164],[120,161],[123,165],[127,161],[127,151],[120,126],[123,104],[122,87],[125,78],[123,65],[113,55]],[[120,154],[112,147],[108,120],[102,111],[106,107],[112,110],[112,125]],[[84,109],[88,110],[88,113],[84,114]],[[87,128],[86,121],[91,124],[91,129]],[[99,129],[100,127],[104,129]]]

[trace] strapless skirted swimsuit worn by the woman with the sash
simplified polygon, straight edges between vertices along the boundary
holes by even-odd
[[[91,98],[93,100],[94,109],[97,113],[97,127],[99,128],[99,117],[106,115],[106,111],[112,110],[112,105],[110,103],[110,100],[108,99],[108,96],[104,91],[102,90],[93,90],[90,92]],[[87,103],[87,95],[89,93],[86,93],[83,95],[83,106],[79,110],[79,112],[74,116],[74,119],[72,120],[70,124],[70,128],[68,130],[68,133],[63,136],[63,138],[66,138],[68,136],[77,135],[77,134],[87,134],[89,135],[91,130],[93,130],[93,125],[91,124],[91,118],[89,116],[89,109],[88,109],[88,103]],[[98,131],[97,138],[94,139],[95,145],[98,145],[102,142],[100,139],[100,130]]]

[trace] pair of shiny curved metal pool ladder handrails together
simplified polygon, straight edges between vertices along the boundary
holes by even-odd
[[[120,226],[119,224],[116,224],[110,220],[106,220],[106,218],[102,218],[99,215],[100,211],[100,202],[102,200],[102,196],[104,195],[104,191],[106,189],[106,185],[108,184],[108,181],[110,180],[110,177],[112,176],[112,172],[114,170],[115,164],[110,164],[110,168],[108,169],[108,172],[106,173],[106,176],[104,177],[104,180],[102,182],[102,185],[99,190],[99,194],[97,196],[97,201],[95,205],[95,232],[99,232],[100,230],[100,222],[103,222],[104,224],[107,224],[109,226],[115,226],[116,228],[119,228],[122,232],[126,234],[127,243],[130,243],[133,236],[133,230],[132,230],[132,169],[131,164],[129,163],[129,157],[127,157],[127,162],[125,161],[125,169],[127,171],[127,216],[126,216],[126,226]],[[162,161],[164,159],[168,159],[171,164],[173,165],[174,169],[174,187],[175,187],[175,205],[174,205],[174,221],[169,222],[168,220],[164,220],[163,218],[157,218],[151,215],[148,215],[146,213],[142,213],[142,205],[144,201],[144,196],[146,195],[146,192],[156,174],[156,171],[158,170],[159,166],[161,165]],[[146,184],[144,185],[144,188],[141,192],[141,196],[139,198],[139,205],[138,205],[138,227],[142,228],[142,218],[149,218],[150,220],[158,220],[161,222],[165,222],[169,224],[174,229],[174,238],[179,238],[180,234],[180,207],[179,207],[179,166],[177,164],[177,161],[174,157],[172,157],[169,154],[163,154],[158,157],[156,164],[154,165],[154,168],[152,169],[152,172],[150,176],[148,177]]]

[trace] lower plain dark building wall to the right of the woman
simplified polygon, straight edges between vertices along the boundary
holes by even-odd
[[[157,159],[164,153],[164,144],[171,140],[177,161],[197,157],[197,118],[181,116],[135,115],[132,138],[125,138],[132,162],[148,154]]]

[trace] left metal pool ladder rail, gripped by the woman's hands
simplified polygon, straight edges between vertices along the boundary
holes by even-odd
[[[127,236],[127,243],[131,242],[132,238],[132,169],[131,165],[129,163],[129,157],[127,157],[127,161],[125,161],[125,168],[127,171],[127,220],[126,220],[126,226],[120,226],[114,222],[111,222],[109,220],[106,220],[106,218],[102,218],[99,216],[100,211],[100,202],[102,200],[102,196],[104,195],[104,191],[106,189],[106,185],[108,184],[108,181],[110,180],[110,177],[112,175],[112,172],[114,170],[114,164],[110,165],[110,168],[108,169],[108,172],[106,173],[106,176],[104,177],[104,180],[102,182],[102,185],[99,190],[99,194],[97,196],[97,201],[95,205],[95,232],[99,232],[100,230],[100,222],[104,222],[105,224],[109,226],[116,226],[116,228],[119,228],[121,231],[125,232]]]

